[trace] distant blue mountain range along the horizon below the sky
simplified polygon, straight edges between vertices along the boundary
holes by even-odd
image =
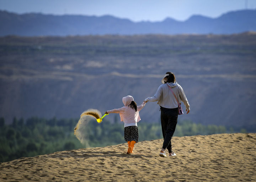
[[[113,16],[16,14],[0,11],[0,36],[103,35],[103,34],[234,34],[256,31],[256,10],[240,10],[218,18],[201,15],[186,21],[132,22]]]

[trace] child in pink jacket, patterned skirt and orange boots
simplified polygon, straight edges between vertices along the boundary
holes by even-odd
[[[123,97],[124,106],[119,109],[113,109],[105,112],[105,114],[119,113],[121,121],[124,122],[124,139],[128,143],[127,154],[133,153],[133,147],[139,140],[139,132],[137,122],[140,121],[139,111],[146,105],[144,101],[142,105],[137,107],[133,97],[128,95]]]

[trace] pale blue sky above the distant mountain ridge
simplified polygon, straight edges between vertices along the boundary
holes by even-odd
[[[223,13],[256,9],[256,0],[0,0],[0,10],[54,15],[112,15],[138,21],[185,21],[192,15],[216,18]]]

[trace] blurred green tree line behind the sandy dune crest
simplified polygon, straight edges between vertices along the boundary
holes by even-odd
[[[26,121],[14,118],[11,125],[6,125],[0,118],[0,162],[21,157],[49,154],[55,151],[105,147],[125,143],[123,122],[116,119],[110,122],[103,119],[97,123],[92,119],[85,127],[86,144],[81,144],[74,136],[74,127],[78,119],[46,119],[32,117]],[[161,123],[139,122],[139,141],[162,138]],[[178,121],[174,136],[207,135],[234,132],[224,126],[204,126],[191,121]],[[246,132],[241,129],[239,132]]]

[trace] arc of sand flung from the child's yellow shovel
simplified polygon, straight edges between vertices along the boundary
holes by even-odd
[[[80,115],[80,119],[74,128],[74,134],[79,141],[89,147],[88,143],[88,135],[86,133],[87,123],[90,121],[91,117],[95,117],[96,119],[101,118],[101,112],[97,109],[88,109]]]

